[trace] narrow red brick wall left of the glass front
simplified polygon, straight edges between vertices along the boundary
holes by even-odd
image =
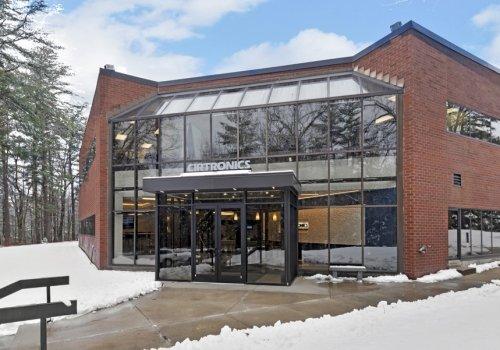
[[[96,156],[80,187],[79,220],[95,215],[95,236],[82,236],[80,247],[99,268],[108,264],[108,121],[119,108],[157,93],[157,87],[113,76],[101,70],[80,149],[80,170],[92,140]]]

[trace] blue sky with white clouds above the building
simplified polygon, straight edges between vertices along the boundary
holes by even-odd
[[[99,68],[156,81],[344,57],[414,20],[500,67],[500,0],[48,0],[91,102]]]

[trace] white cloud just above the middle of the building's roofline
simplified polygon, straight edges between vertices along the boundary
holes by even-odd
[[[351,56],[364,48],[343,35],[305,29],[285,43],[264,42],[223,60],[216,72],[228,72]]]

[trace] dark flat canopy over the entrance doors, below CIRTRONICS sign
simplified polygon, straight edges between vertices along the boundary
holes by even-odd
[[[300,192],[300,183],[292,170],[251,172],[245,170],[184,173],[176,176],[144,178],[147,192],[180,192],[219,189],[294,188]]]

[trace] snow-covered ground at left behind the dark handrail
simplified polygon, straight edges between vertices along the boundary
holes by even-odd
[[[35,244],[0,249],[0,287],[20,279],[69,276],[69,286],[51,288],[52,301],[78,301],[78,314],[109,307],[161,286],[153,272],[100,271],[77,242]],[[19,291],[0,299],[0,308],[46,302],[45,289]],[[31,321],[38,322],[38,321]],[[0,336],[19,324],[0,325]]]

